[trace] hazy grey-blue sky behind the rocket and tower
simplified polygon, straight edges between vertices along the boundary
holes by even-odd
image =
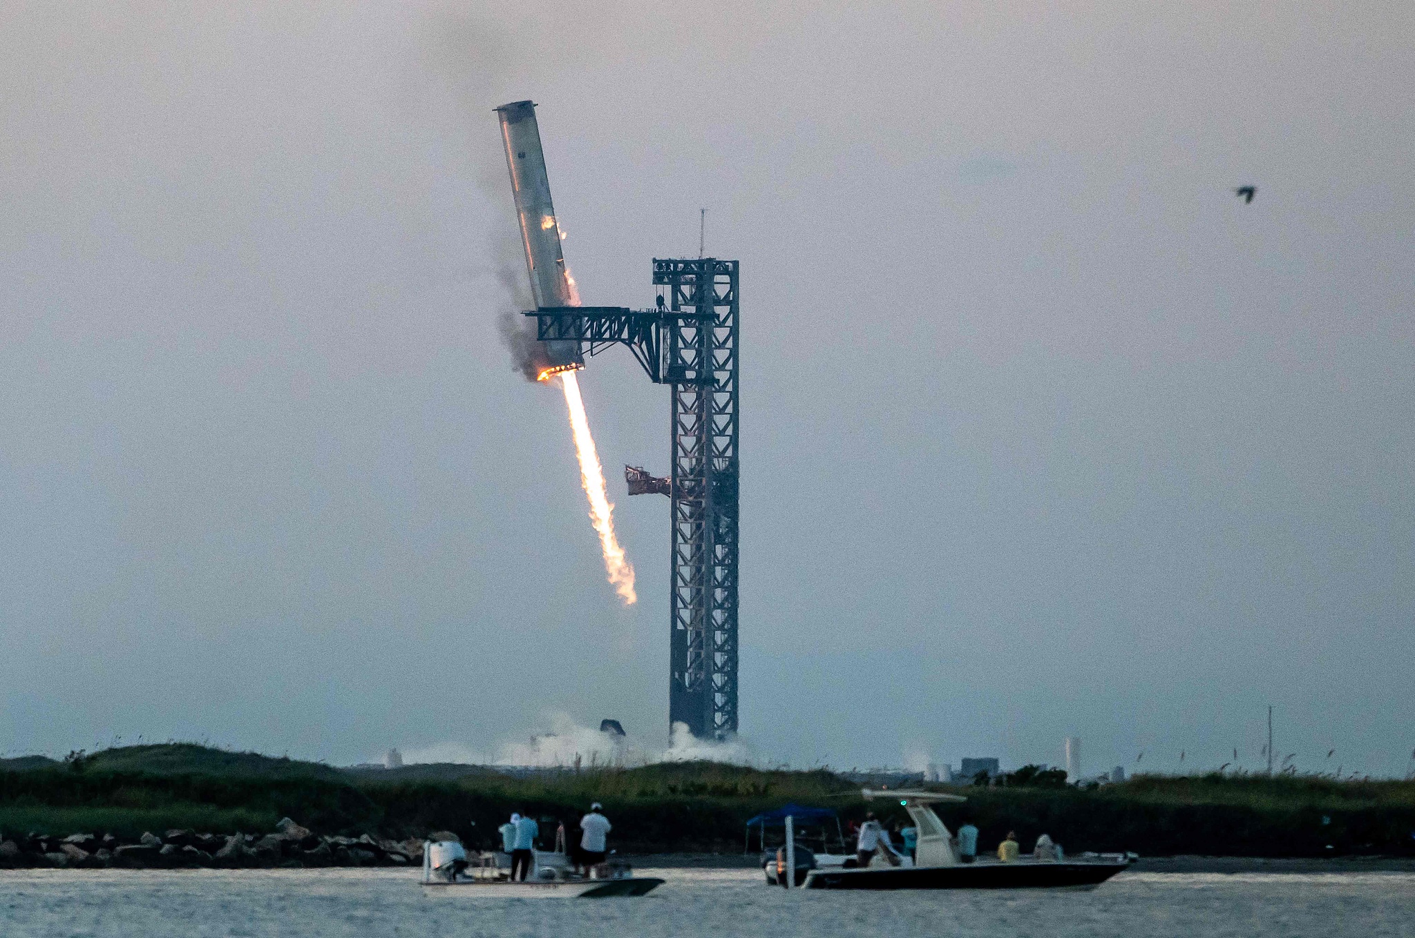
[[[741,260],[758,757],[1257,767],[1274,704],[1404,774],[1412,89],[1402,3],[0,3],[0,749],[666,737],[666,391],[582,381],[624,610],[497,342],[533,97],[587,302],[699,206]]]

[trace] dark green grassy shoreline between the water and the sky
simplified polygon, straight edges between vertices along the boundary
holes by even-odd
[[[1415,783],[1312,777],[1140,776],[1094,790],[968,787],[942,805],[951,826],[974,818],[986,848],[1015,829],[1050,833],[1070,852],[1143,856],[1415,856]],[[471,766],[359,771],[191,744],[130,746],[67,763],[0,761],[0,838],[38,832],[139,836],[168,828],[270,831],[290,817],[327,835],[458,833],[490,846],[511,811],[570,828],[601,801],[625,853],[740,853],[747,818],[788,801],[831,807],[842,822],[866,804],[828,771],[763,771],[716,763],[550,771],[514,777]],[[553,825],[546,831],[553,836]],[[770,841],[770,836],[768,836]],[[753,846],[757,838],[753,836]]]

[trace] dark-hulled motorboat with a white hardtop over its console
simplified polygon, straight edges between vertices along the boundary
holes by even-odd
[[[1078,859],[1017,859],[1002,862],[979,857],[958,859],[954,836],[934,814],[940,801],[966,801],[961,795],[935,791],[870,791],[866,798],[897,798],[918,829],[914,857],[896,857],[897,866],[876,856],[865,867],[811,865],[799,870],[804,889],[1095,889],[1131,865],[1132,855],[1090,855]],[[782,863],[781,870],[784,872]],[[770,870],[768,870],[770,873]],[[777,877],[784,881],[787,877]]]

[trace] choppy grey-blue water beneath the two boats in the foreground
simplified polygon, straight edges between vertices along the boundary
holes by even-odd
[[[1415,874],[1125,873],[1094,893],[821,893],[641,870],[642,898],[429,898],[406,870],[0,872],[0,935],[1399,935]]]

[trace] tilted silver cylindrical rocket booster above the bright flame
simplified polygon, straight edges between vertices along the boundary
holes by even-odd
[[[550,179],[545,172],[541,151],[541,127],[535,120],[535,105],[518,100],[497,107],[501,119],[501,141],[507,147],[507,168],[511,170],[511,191],[516,199],[521,222],[521,242],[526,251],[531,292],[536,307],[577,307],[579,292],[574,278],[565,267],[560,250],[560,223],[550,203]],[[541,380],[584,367],[580,343],[573,339],[542,342],[546,366]]]

